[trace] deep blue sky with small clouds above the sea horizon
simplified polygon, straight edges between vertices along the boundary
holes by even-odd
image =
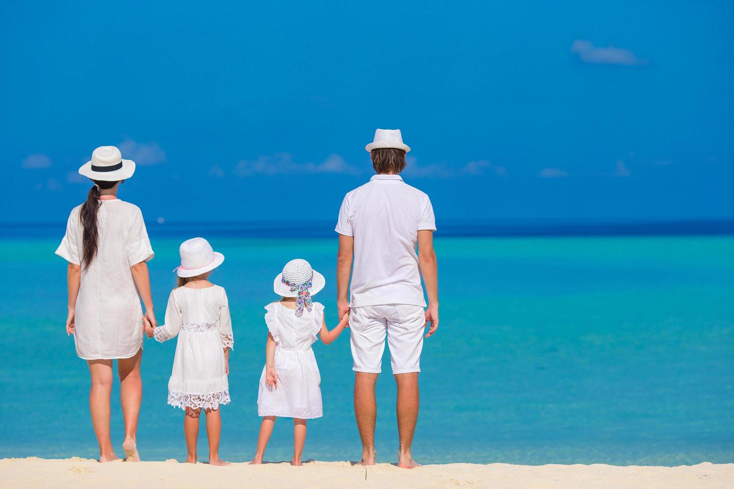
[[[2,221],[102,144],[149,220],[335,219],[375,128],[439,223],[733,218],[734,6],[557,3],[2,2]]]

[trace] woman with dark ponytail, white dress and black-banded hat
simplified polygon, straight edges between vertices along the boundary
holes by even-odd
[[[142,308],[157,326],[146,262],[153,258],[145,222],[137,206],[117,199],[117,187],[135,172],[114,146],[101,146],[79,174],[94,185],[87,202],[71,210],[66,235],[56,254],[69,262],[69,314],[66,333],[92,377],[90,411],[99,442],[99,461],[117,460],[109,438],[112,360],[117,359],[125,419],[126,460],[139,461],[135,443],[142,382]]]

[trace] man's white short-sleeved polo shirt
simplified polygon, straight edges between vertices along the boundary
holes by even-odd
[[[335,231],[355,238],[352,307],[426,306],[415,253],[421,229],[436,230],[431,201],[400,175],[374,175],[346,194]]]

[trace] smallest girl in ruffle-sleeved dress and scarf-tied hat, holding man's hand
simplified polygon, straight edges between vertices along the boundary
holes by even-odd
[[[306,419],[320,418],[321,375],[311,345],[317,335],[324,345],[333,342],[349,324],[349,314],[329,331],[324,306],[311,295],[324,288],[324,276],[306,260],[292,260],[275,277],[273,290],[281,300],[265,306],[268,340],[266,363],[260,376],[258,415],[263,416],[258,450],[251,463],[262,463],[277,416],[293,418],[294,453],[291,465],[301,465]]]

